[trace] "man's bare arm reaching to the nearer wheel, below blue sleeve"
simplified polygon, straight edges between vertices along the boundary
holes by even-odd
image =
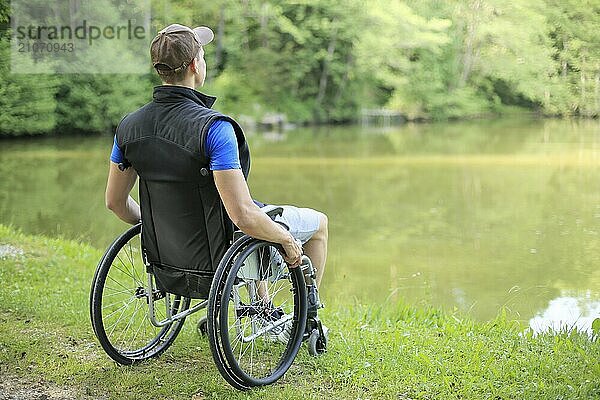
[[[254,204],[242,170],[213,171],[215,184],[233,223],[244,233],[257,239],[279,243],[286,252],[286,262],[291,266],[300,263],[302,248],[281,225],[273,222]]]

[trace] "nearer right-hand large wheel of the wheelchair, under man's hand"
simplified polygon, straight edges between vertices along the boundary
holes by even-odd
[[[219,265],[208,313],[209,343],[223,377],[238,389],[271,384],[302,343],[302,270],[289,268],[276,245],[242,237]]]

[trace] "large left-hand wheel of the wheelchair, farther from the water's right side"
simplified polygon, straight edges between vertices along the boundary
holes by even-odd
[[[148,318],[147,273],[140,243],[141,224],[118,237],[94,275],[90,294],[92,327],[102,348],[116,362],[131,365],[163,353],[175,340],[184,319],[155,327]],[[155,291],[158,321],[166,318],[166,297]],[[190,299],[171,297],[172,315],[189,308]]]

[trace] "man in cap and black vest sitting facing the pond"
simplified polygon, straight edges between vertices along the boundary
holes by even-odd
[[[117,127],[106,206],[127,223],[141,220],[144,257],[161,290],[207,298],[235,227],[281,245],[290,268],[304,253],[318,287],[327,257],[326,215],[286,205],[271,218],[267,213],[278,206],[254,201],[246,183],[250,153],[242,128],[211,109],[214,97],[195,90],[206,77],[203,46],[213,38],[207,27],[173,24],[152,41],[162,85]],[[130,196],[138,177],[140,204]],[[269,302],[261,284],[259,296]],[[269,318],[281,314],[274,310]]]

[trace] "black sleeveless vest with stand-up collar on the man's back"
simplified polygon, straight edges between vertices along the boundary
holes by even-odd
[[[142,246],[159,288],[207,298],[233,236],[205,155],[208,128],[217,119],[233,125],[246,178],[248,145],[237,122],[210,109],[214,97],[181,86],[157,86],[153,98],[117,128],[125,164],[140,178]]]

